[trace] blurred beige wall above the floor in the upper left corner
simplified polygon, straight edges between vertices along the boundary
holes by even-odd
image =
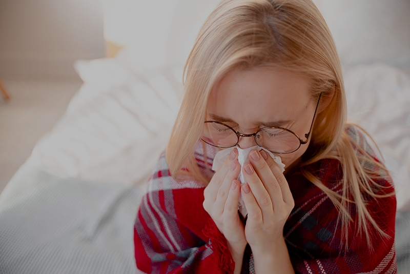
[[[73,76],[75,60],[104,55],[100,1],[0,1],[0,76]]]

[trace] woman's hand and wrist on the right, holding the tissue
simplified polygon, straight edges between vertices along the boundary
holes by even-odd
[[[251,163],[243,165],[248,184],[242,185],[241,192],[248,210],[245,238],[254,254],[255,271],[269,273],[275,267],[278,273],[292,273],[283,238],[283,226],[294,207],[288,182],[265,151],[252,150],[249,159]]]

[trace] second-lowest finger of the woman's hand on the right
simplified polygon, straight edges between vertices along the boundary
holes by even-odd
[[[250,163],[243,165],[243,175],[252,190],[253,197],[262,210],[263,218],[269,218],[270,214],[273,213],[272,198]]]

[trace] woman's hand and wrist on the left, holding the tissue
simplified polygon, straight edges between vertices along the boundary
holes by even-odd
[[[238,150],[235,148],[215,172],[203,191],[203,208],[227,239],[235,265],[241,265],[247,241],[238,213],[240,183],[236,178],[240,172],[240,165],[237,158]],[[237,262],[238,260],[240,262]]]

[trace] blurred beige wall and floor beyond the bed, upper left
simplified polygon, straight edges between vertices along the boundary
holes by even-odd
[[[82,81],[73,63],[105,56],[98,0],[1,0],[0,192]]]

